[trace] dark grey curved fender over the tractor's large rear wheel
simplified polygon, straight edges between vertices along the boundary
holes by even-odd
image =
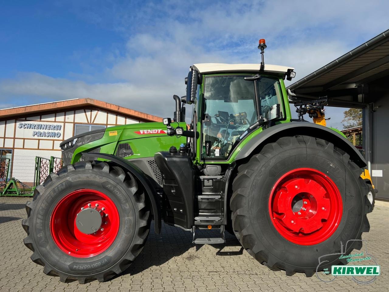
[[[279,137],[293,135],[309,135],[329,141],[336,147],[348,153],[350,155],[350,160],[359,167],[363,168],[366,166],[366,160],[361,153],[342,135],[321,125],[301,122],[282,123],[263,130],[260,134],[251,138],[251,140],[242,147],[235,160],[248,157],[256,148],[275,142]]]

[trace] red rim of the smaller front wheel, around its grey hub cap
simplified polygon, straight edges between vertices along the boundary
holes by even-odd
[[[98,211],[102,216],[101,226],[92,234],[81,232],[76,225],[77,214],[87,208]],[[93,257],[107,250],[114,242],[119,231],[119,212],[104,193],[90,189],[76,190],[55,206],[50,231],[54,242],[63,252],[73,257]]]

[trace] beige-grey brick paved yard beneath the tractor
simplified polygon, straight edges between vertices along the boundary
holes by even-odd
[[[381,275],[371,285],[357,285],[338,277],[331,283],[315,275],[287,277],[271,271],[245,252],[238,241],[227,235],[224,245],[195,246],[190,232],[163,225],[161,235],[151,230],[141,255],[123,274],[105,283],[77,281],[61,283],[46,276],[42,266],[30,260],[23,245],[21,227],[26,198],[0,197],[0,291],[388,291],[389,290],[389,208],[378,207],[368,215],[371,231],[364,236],[368,250],[381,266]],[[227,234],[227,233],[226,233]]]

